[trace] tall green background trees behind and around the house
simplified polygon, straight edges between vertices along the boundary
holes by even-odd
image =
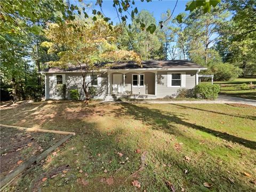
[[[83,30],[76,21],[87,26],[97,19],[105,21],[110,29],[120,28],[111,45],[116,50],[134,51],[142,60],[188,59],[209,68],[205,73],[214,74],[215,80],[253,75],[255,2],[218,2],[191,1],[186,8],[189,13],[173,17],[174,7],[161,15],[161,21],[156,21],[146,10],[138,13],[137,7],[128,14],[134,1],[113,1],[119,18],[119,23],[114,24],[86,3],[79,7],[61,0],[1,1],[1,98],[5,91],[12,94],[13,100],[42,95],[44,78],[38,71],[49,67],[49,62],[59,61],[61,52],[67,51],[65,46],[47,46],[45,42],[50,43],[50,39],[45,30],[49,23],[63,25],[67,20],[75,21],[68,27],[76,32]],[[101,7],[102,3],[97,1],[96,5]],[[89,17],[91,10],[93,15]]]

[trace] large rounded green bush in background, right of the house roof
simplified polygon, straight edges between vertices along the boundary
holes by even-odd
[[[211,66],[211,73],[214,74],[215,81],[229,81],[237,78],[243,73],[242,69],[229,63],[217,63]]]

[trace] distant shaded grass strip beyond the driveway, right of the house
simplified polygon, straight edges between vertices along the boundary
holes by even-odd
[[[254,89],[241,89],[242,84],[250,84],[250,82],[254,84]],[[256,78],[236,78],[233,81],[219,81],[214,84],[220,84],[220,94],[256,100]]]

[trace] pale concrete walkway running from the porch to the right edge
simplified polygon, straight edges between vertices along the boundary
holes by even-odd
[[[252,99],[243,99],[238,97],[230,97],[227,95],[219,95],[218,99],[209,101],[209,100],[201,100],[201,101],[142,101],[147,103],[242,103],[246,105],[256,106],[256,101]]]

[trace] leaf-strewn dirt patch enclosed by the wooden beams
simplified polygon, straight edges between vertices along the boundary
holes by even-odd
[[[1,127],[1,179],[31,156],[41,154],[62,137],[63,135],[53,133],[34,133]]]

